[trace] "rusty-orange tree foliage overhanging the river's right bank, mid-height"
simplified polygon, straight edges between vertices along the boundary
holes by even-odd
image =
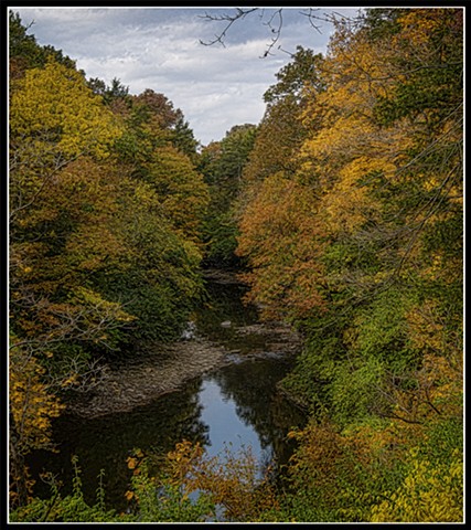
[[[250,298],[265,315],[293,316],[322,307],[320,229],[312,191],[280,174],[268,177],[240,221],[237,254],[249,257]]]

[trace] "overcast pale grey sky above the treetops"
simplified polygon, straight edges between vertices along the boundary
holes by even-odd
[[[265,91],[289,62],[298,44],[324,53],[332,28],[312,28],[301,12],[283,8],[282,31],[272,54],[261,59],[274,35],[274,9],[260,9],[228,30],[225,46],[205,46],[225,26],[204,14],[234,8],[20,8],[24,25],[39,44],[51,44],[76,61],[87,78],[107,84],[117,77],[131,94],[146,88],[164,94],[180,108],[202,145],[222,139],[234,125],[258,124]],[[334,9],[356,14],[358,8]],[[315,13],[327,12],[320,9]],[[278,18],[272,20],[278,25]],[[280,46],[280,47],[278,47]]]

